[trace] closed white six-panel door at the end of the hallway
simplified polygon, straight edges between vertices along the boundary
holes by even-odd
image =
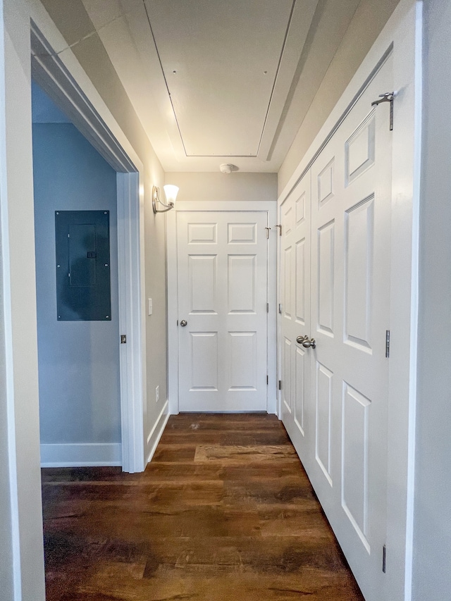
[[[266,211],[178,211],[180,411],[266,411]]]

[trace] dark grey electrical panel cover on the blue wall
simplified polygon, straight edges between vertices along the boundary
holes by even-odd
[[[58,321],[110,321],[109,211],[55,211]]]

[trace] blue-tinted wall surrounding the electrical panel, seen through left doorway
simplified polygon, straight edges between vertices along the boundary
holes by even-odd
[[[116,172],[70,123],[33,125],[41,442],[121,442]],[[110,211],[111,321],[56,320],[54,211]]]

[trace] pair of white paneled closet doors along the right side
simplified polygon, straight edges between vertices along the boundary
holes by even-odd
[[[392,86],[388,58],[280,208],[283,422],[366,601],[385,599],[392,189],[371,101]]]

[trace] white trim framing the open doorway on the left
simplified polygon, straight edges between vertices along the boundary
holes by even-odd
[[[144,398],[146,380],[144,296],[144,191],[140,187],[143,165],[134,152],[125,151],[97,109],[31,21],[32,78],[66,113],[82,135],[116,171],[118,210],[118,310],[119,330],[126,334],[120,345],[121,459],[82,465],[121,465],[123,471],[143,471]],[[119,340],[118,340],[119,345]],[[78,463],[80,464],[80,463]],[[47,466],[49,464],[46,464]],[[69,466],[70,463],[52,463]]]

